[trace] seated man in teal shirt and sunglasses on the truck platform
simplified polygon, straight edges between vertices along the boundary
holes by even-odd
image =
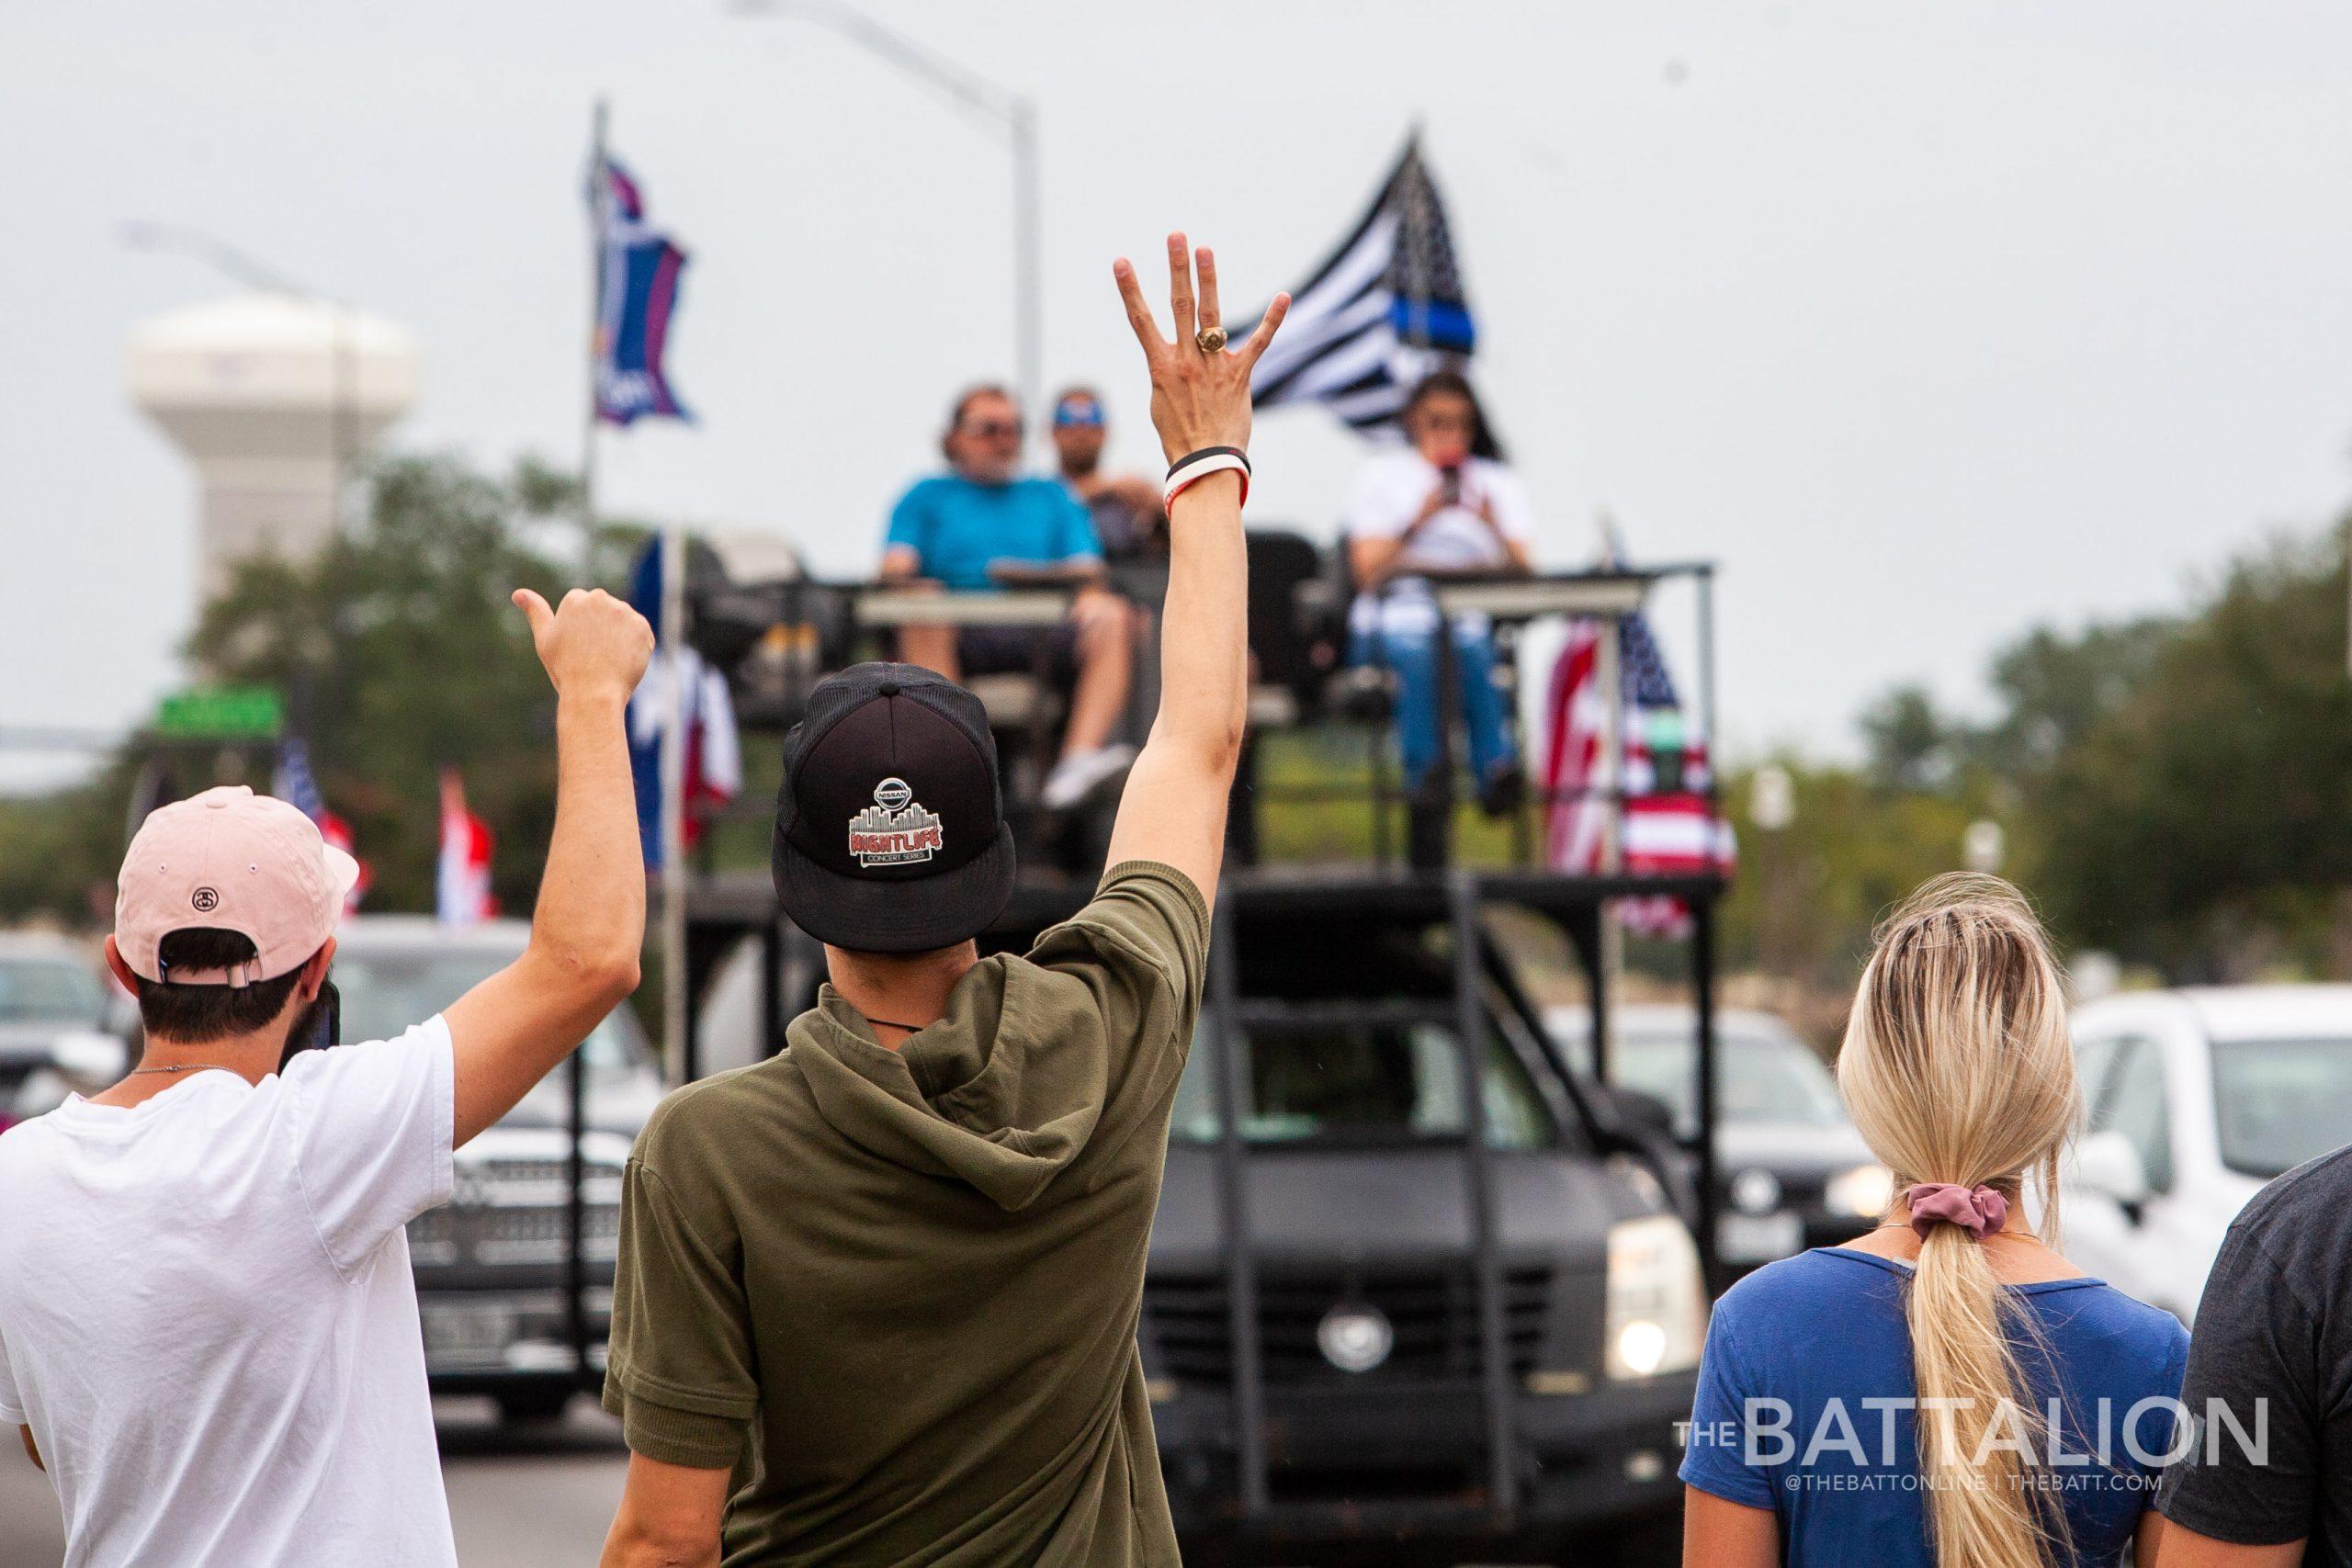
[[[1110,592],[1087,508],[1056,480],[1025,480],[1021,411],[997,386],[955,402],[941,437],[948,473],[917,480],[891,508],[882,581],[929,581],[957,592],[1065,585],[1077,592],[1056,628],[910,625],[898,654],[948,679],[1035,670],[1070,684],[1070,722],[1040,799],[1068,809],[1112,783],[1136,750],[1115,741],[1134,677],[1136,611]]]

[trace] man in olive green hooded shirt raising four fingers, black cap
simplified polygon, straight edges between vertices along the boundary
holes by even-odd
[[[1195,301],[1197,263],[1197,301]],[[1094,900],[978,959],[1011,893],[971,693],[823,682],[786,741],[783,912],[830,985],[786,1051],[677,1091],[628,1164],[607,1568],[1176,1563],[1136,1354],[1169,1103],[1247,698],[1249,367],[1169,235],[1176,341],[1115,266],[1176,489],[1162,698]],[[1247,461],[1244,461],[1247,463]]]

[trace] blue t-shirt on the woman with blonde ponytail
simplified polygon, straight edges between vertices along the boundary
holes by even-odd
[[[1907,1279],[1889,1258],[1823,1246],[1757,1269],[1715,1305],[1682,1479],[1771,1509],[1785,1568],[1936,1568],[1910,1403]],[[2004,1293],[2049,1347],[2013,1338],[2034,1413],[2046,1425],[2051,1394],[2063,1401],[2056,1443],[2025,1432],[2027,1479],[2063,1488],[2074,1563],[2112,1563],[2154,1500],[2161,1465],[2147,1458],[2164,1460],[2173,1443],[2187,1328],[2098,1279]]]

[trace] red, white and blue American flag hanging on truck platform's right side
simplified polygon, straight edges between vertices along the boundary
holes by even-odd
[[[1618,625],[1618,672],[1623,712],[1618,719],[1625,809],[1618,818],[1621,865],[1635,877],[1729,877],[1736,846],[1731,825],[1708,799],[1712,769],[1708,738],[1684,729],[1675,677],[1639,614]],[[1550,729],[1543,783],[1550,799],[1550,863],[1555,870],[1595,875],[1604,870],[1611,802],[1602,757],[1609,722],[1595,670],[1606,621],[1578,621],[1552,665]],[[1632,931],[1679,936],[1691,912],[1679,898],[1625,898],[1618,917]]]

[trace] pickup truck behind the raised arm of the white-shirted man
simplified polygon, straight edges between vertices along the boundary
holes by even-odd
[[[397,1034],[510,964],[524,922],[449,929],[409,914],[362,914],[339,931],[334,983],[343,1039]],[[661,1072],[623,1004],[581,1046],[588,1072],[586,1328],[604,1366],[621,1166],[661,1100]],[[409,1222],[409,1262],[435,1392],[489,1394],[508,1420],[553,1420],[583,1385],[569,1338],[569,1091],[557,1067],[499,1126],[456,1152],[456,1197]]]

